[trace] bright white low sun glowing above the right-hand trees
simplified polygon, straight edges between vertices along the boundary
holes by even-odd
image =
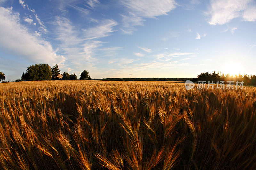
[[[222,73],[229,74],[230,76],[235,76],[242,74],[244,72],[244,67],[241,63],[236,61],[228,61],[223,65]]]

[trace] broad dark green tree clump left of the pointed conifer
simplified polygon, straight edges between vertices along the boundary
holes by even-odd
[[[52,74],[48,64],[29,65],[26,73],[21,76],[22,81],[51,80]]]

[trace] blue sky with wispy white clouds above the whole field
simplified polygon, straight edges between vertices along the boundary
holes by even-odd
[[[59,65],[92,78],[256,74],[252,0],[0,0],[0,71]]]

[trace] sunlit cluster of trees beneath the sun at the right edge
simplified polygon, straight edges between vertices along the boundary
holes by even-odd
[[[221,73],[216,73],[216,71],[214,71],[213,73],[201,73],[197,76],[197,81],[206,81],[206,83],[208,83],[208,81],[210,81],[210,83],[212,83],[212,81],[214,83],[216,83],[217,81],[238,81],[238,82],[242,82],[244,81],[245,85],[256,85],[256,76],[254,75],[229,75],[229,74],[221,74]]]

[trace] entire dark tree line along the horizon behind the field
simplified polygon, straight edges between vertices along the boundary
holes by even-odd
[[[26,72],[22,74],[21,79],[17,79],[16,81],[40,81],[40,80],[77,80],[77,76],[75,73],[69,74],[68,72],[64,72],[62,78],[60,79],[58,75],[60,74],[59,66],[56,64],[54,67],[50,69],[48,64],[34,64],[29,65]],[[89,72],[84,70],[81,72],[80,80],[92,80],[89,76]],[[191,80],[193,82],[204,81],[204,83],[217,83],[217,81],[244,81],[244,85],[256,85],[256,76],[254,75],[229,75],[229,74],[221,74],[216,71],[212,73],[201,73],[197,76],[197,78],[105,78],[105,79],[94,79],[94,80],[106,80],[106,81],[185,81]],[[0,72],[0,82],[5,80],[5,74]],[[10,81],[6,81],[10,82]]]

